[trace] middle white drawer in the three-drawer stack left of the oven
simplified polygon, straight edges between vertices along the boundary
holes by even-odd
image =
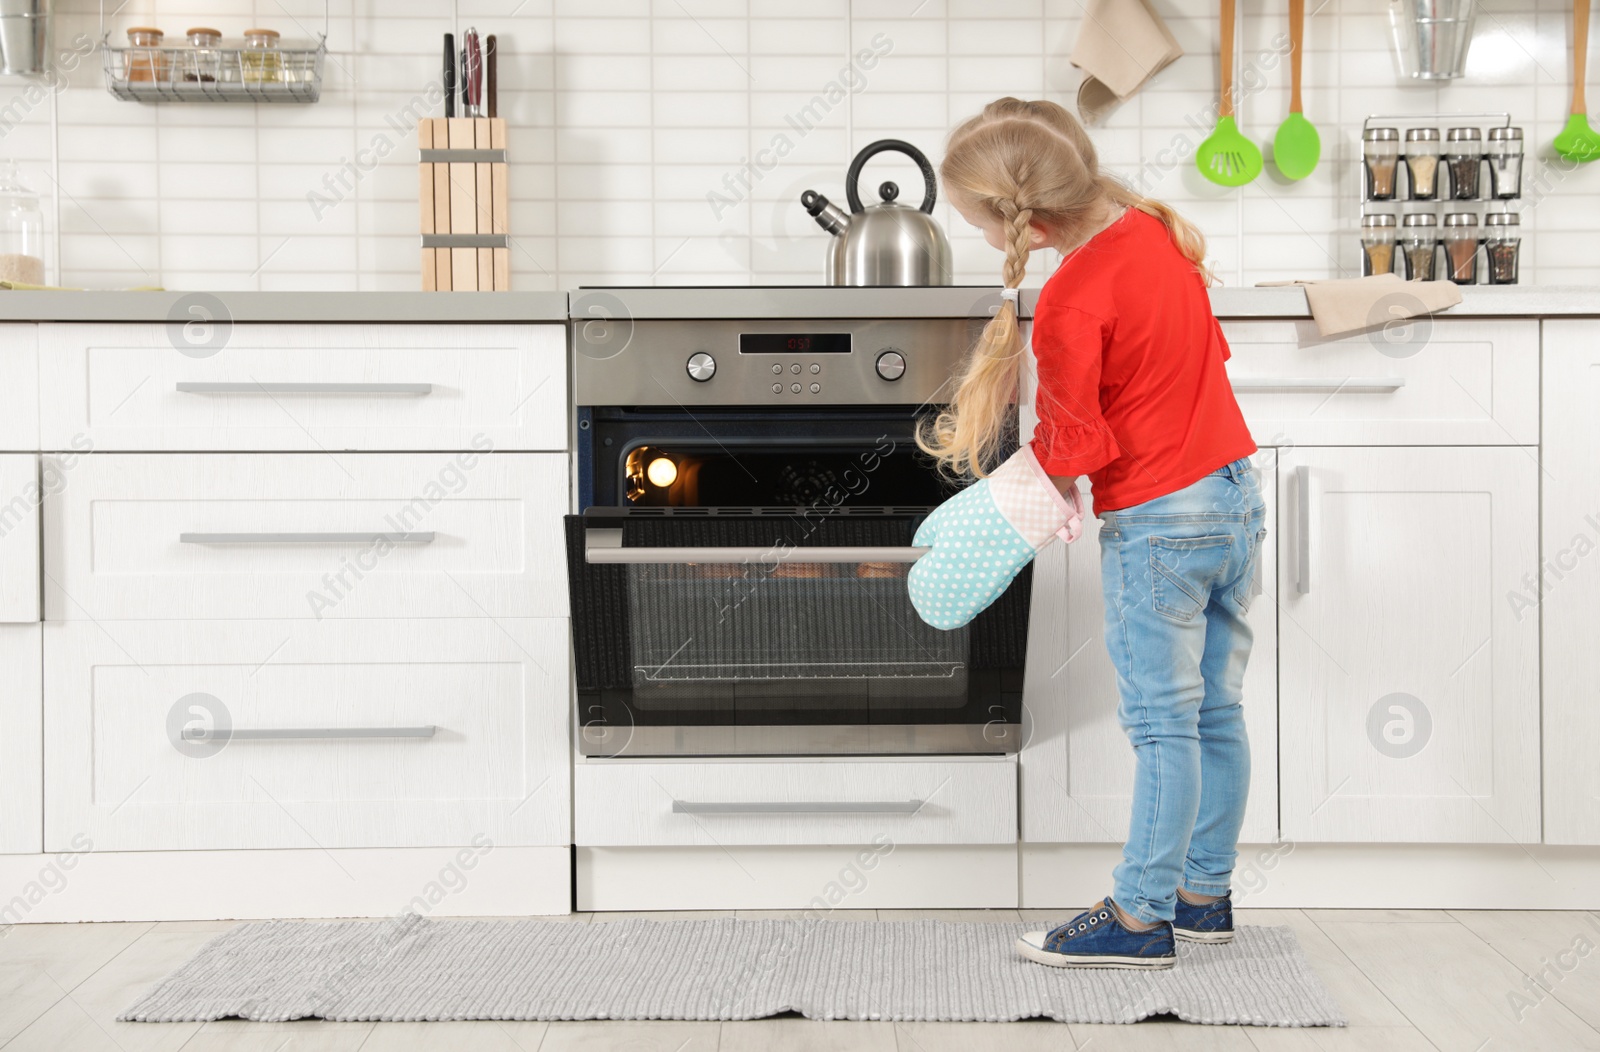
[[[45,502],[45,611],[565,617],[566,494],[558,452],[82,457]]]

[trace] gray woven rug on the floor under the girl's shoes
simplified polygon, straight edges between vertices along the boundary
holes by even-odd
[[[1062,916],[1062,921],[1066,916]],[[1054,969],[1038,924],[944,921],[267,921],[200,950],[118,1018],[810,1018],[1342,1026],[1288,927],[1179,943],[1165,972]]]

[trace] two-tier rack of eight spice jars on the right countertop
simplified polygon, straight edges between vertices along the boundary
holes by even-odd
[[[1525,144],[1510,114],[1374,114],[1360,145],[1363,275],[1517,283]]]

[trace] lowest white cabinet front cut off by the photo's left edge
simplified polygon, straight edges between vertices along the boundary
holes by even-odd
[[[0,854],[43,851],[40,625],[0,625]]]

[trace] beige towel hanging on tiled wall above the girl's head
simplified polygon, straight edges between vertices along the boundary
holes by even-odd
[[[1083,123],[1098,125],[1182,53],[1147,0],[1088,0],[1072,45],[1072,64],[1086,74],[1078,85]]]

